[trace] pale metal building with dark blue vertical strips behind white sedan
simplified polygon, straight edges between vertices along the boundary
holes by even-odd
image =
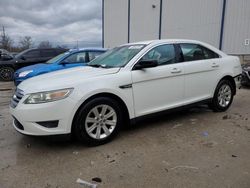
[[[103,46],[182,38],[250,54],[250,0],[103,0]]]

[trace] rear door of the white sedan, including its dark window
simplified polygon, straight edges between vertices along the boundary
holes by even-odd
[[[185,71],[185,104],[213,96],[218,81],[219,55],[199,44],[180,44]]]

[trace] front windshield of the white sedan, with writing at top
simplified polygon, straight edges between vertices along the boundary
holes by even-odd
[[[125,66],[145,45],[135,44],[113,48],[100,55],[88,65],[93,67],[112,68]]]

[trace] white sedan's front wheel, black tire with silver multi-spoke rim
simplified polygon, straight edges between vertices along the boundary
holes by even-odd
[[[99,97],[83,105],[76,114],[73,134],[88,145],[101,145],[111,141],[122,125],[119,103],[111,98]]]

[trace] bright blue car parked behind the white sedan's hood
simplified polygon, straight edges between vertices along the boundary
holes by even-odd
[[[17,86],[22,81],[40,74],[84,66],[89,61],[106,52],[103,48],[73,49],[60,54],[46,63],[35,64],[18,69],[14,74],[14,83]]]

